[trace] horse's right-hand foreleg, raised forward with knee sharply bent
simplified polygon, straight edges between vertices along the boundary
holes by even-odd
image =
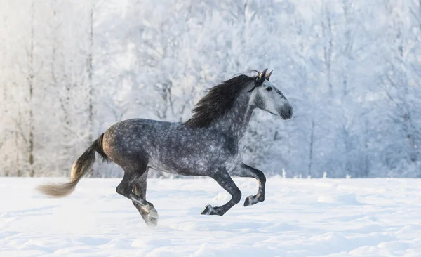
[[[250,195],[244,201],[244,206],[250,206],[257,204],[258,202],[265,201],[265,184],[266,177],[262,171],[254,169],[253,167],[248,166],[247,164],[240,164],[236,166],[233,171],[230,172],[232,176],[246,177],[246,178],[255,178],[259,182],[259,190],[257,195]]]

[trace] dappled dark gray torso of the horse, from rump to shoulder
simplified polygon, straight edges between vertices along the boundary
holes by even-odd
[[[220,133],[180,122],[128,119],[105,132],[103,145],[107,156],[119,166],[147,159],[154,169],[201,175],[232,152],[225,141]]]

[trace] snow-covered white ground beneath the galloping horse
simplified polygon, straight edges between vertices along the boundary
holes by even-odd
[[[210,179],[148,180],[159,212],[149,229],[118,179],[83,178],[72,195],[48,199],[34,187],[62,178],[0,178],[0,256],[421,256],[421,180],[268,178],[265,202],[234,179],[241,204],[201,216],[229,199]]]

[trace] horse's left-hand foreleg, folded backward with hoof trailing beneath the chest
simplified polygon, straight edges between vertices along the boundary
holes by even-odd
[[[205,207],[205,209],[203,209],[201,214],[222,216],[229,209],[231,209],[232,206],[240,202],[241,191],[239,190],[239,187],[235,185],[231,176],[229,176],[229,174],[227,173],[225,169],[218,171],[217,173],[213,174],[213,176],[210,176],[210,177],[216,180],[216,182],[218,182],[218,184],[220,184],[222,188],[227,190],[227,192],[229,192],[229,194],[232,195],[232,198],[231,200],[229,200],[229,202],[227,202],[226,204],[222,206],[213,207],[210,204],[208,204]]]

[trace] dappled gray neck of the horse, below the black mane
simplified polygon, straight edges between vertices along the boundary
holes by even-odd
[[[220,117],[213,126],[225,135],[234,138],[237,143],[243,138],[254,107],[250,105],[250,94],[242,94],[230,110]]]

